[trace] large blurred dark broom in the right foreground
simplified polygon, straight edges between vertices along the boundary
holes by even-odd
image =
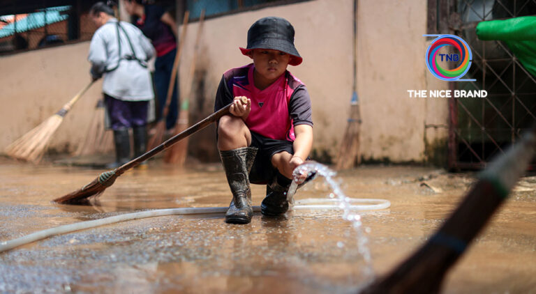
[[[438,293],[449,268],[482,231],[523,175],[536,148],[536,128],[479,173],[445,224],[415,254],[362,293]]]

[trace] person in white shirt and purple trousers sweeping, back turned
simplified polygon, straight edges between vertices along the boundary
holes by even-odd
[[[147,110],[154,98],[147,61],[154,56],[154,48],[140,29],[119,22],[105,3],[91,6],[90,15],[98,29],[91,38],[88,60],[92,79],[104,76],[105,107],[116,151],[116,161],[107,168],[115,168],[131,160],[130,128],[134,157],[147,149]]]

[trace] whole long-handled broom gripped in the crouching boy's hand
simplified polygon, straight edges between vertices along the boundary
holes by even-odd
[[[241,102],[246,104],[248,100],[247,98],[242,97]],[[147,153],[140,155],[140,157],[137,157],[134,160],[131,160],[130,162],[127,162],[126,164],[121,165],[121,167],[118,167],[117,169],[114,169],[112,171],[105,171],[104,173],[101,173],[101,175],[99,175],[95,180],[93,180],[88,185],[85,185],[84,187],[82,187],[81,189],[78,189],[75,192],[72,192],[65,196],[54,199],[54,201],[57,203],[61,203],[61,204],[86,203],[89,197],[98,196],[101,193],[103,193],[107,187],[110,187],[111,185],[113,185],[117,177],[121,176],[121,174],[123,174],[125,171],[128,171],[128,169],[132,169],[133,167],[136,167],[141,162],[148,160],[154,155],[160,153],[161,151],[170,148],[171,146],[176,144],[178,141],[181,141],[182,139],[190,136],[191,134],[194,134],[195,132],[198,132],[204,129],[205,127],[209,126],[211,123],[218,121],[218,119],[220,119],[222,116],[229,114],[229,109],[231,105],[232,105],[232,102],[226,107],[223,107],[222,109],[214,112],[214,114],[211,114],[207,118],[204,118],[199,123],[196,123],[195,125],[192,125],[191,127],[188,127],[188,129],[184,130],[180,134],[174,135],[167,141],[164,141],[162,144],[149,150]]]

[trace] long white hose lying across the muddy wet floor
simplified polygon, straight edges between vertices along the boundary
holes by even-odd
[[[327,201],[326,201],[327,200]],[[306,204],[306,203],[332,203],[336,199],[303,199],[297,201],[297,204]],[[368,206],[352,206],[352,210],[373,210],[373,209],[383,209],[388,208],[390,203],[387,200],[382,199],[350,199],[352,202],[360,203],[373,203]],[[337,209],[339,206],[329,205],[329,206],[317,206],[317,205],[297,205],[292,207],[294,210],[304,210],[304,209]],[[142,219],[146,217],[161,217],[164,215],[199,215],[199,214],[209,214],[209,213],[225,213],[228,210],[227,207],[207,207],[207,208],[169,208],[169,209],[158,209],[158,210],[147,210],[141,212],[132,212],[126,213],[124,215],[115,215],[113,217],[105,217],[103,219],[95,219],[87,222],[77,222],[75,224],[66,224],[64,226],[57,226],[51,229],[45,229],[43,231],[38,231],[25,235],[21,238],[8,240],[0,242],[0,252],[5,252],[9,249],[19,247],[22,245],[35,242],[37,240],[45,239],[53,235],[60,235],[64,233],[71,233],[74,231],[80,231],[84,229],[91,229],[97,226],[104,226],[105,224],[114,224],[117,222],[125,222],[132,219]],[[260,211],[260,206],[253,206],[253,211]]]

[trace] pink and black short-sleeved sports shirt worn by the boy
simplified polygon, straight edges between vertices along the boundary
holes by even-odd
[[[305,85],[288,70],[273,84],[259,90],[253,84],[253,63],[232,68],[223,74],[214,111],[228,105],[234,97],[251,100],[251,112],[246,119],[249,130],[264,137],[294,141],[296,125],[311,125],[311,98]]]

